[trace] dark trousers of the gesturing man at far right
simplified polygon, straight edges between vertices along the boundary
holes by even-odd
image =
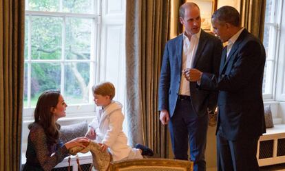
[[[229,141],[224,137],[222,128],[217,132],[217,159],[219,171],[259,170],[256,152],[259,137]]]

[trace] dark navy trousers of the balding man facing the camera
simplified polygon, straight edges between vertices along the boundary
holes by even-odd
[[[194,162],[194,171],[206,170],[204,152],[206,149],[208,114],[202,117],[193,112],[190,100],[178,100],[176,110],[169,121],[172,150],[175,159]]]

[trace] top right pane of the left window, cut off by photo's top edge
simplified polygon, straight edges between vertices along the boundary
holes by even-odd
[[[63,0],[63,12],[94,14],[94,0]]]

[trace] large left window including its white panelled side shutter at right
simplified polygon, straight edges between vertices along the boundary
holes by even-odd
[[[125,1],[26,0],[24,121],[50,89],[61,90],[67,117],[93,115],[100,81],[112,81],[123,103],[124,42]]]

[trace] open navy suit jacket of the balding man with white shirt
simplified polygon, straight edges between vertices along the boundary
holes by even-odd
[[[180,80],[182,76],[182,48],[183,34],[171,39],[165,46],[160,72],[158,90],[158,110],[168,110],[170,117],[176,108]],[[218,74],[222,42],[213,35],[201,30],[198,48],[193,59],[193,68],[202,72]],[[191,105],[198,115],[207,113],[207,109],[214,110],[217,105],[218,92],[198,90],[196,83],[191,83]]]

